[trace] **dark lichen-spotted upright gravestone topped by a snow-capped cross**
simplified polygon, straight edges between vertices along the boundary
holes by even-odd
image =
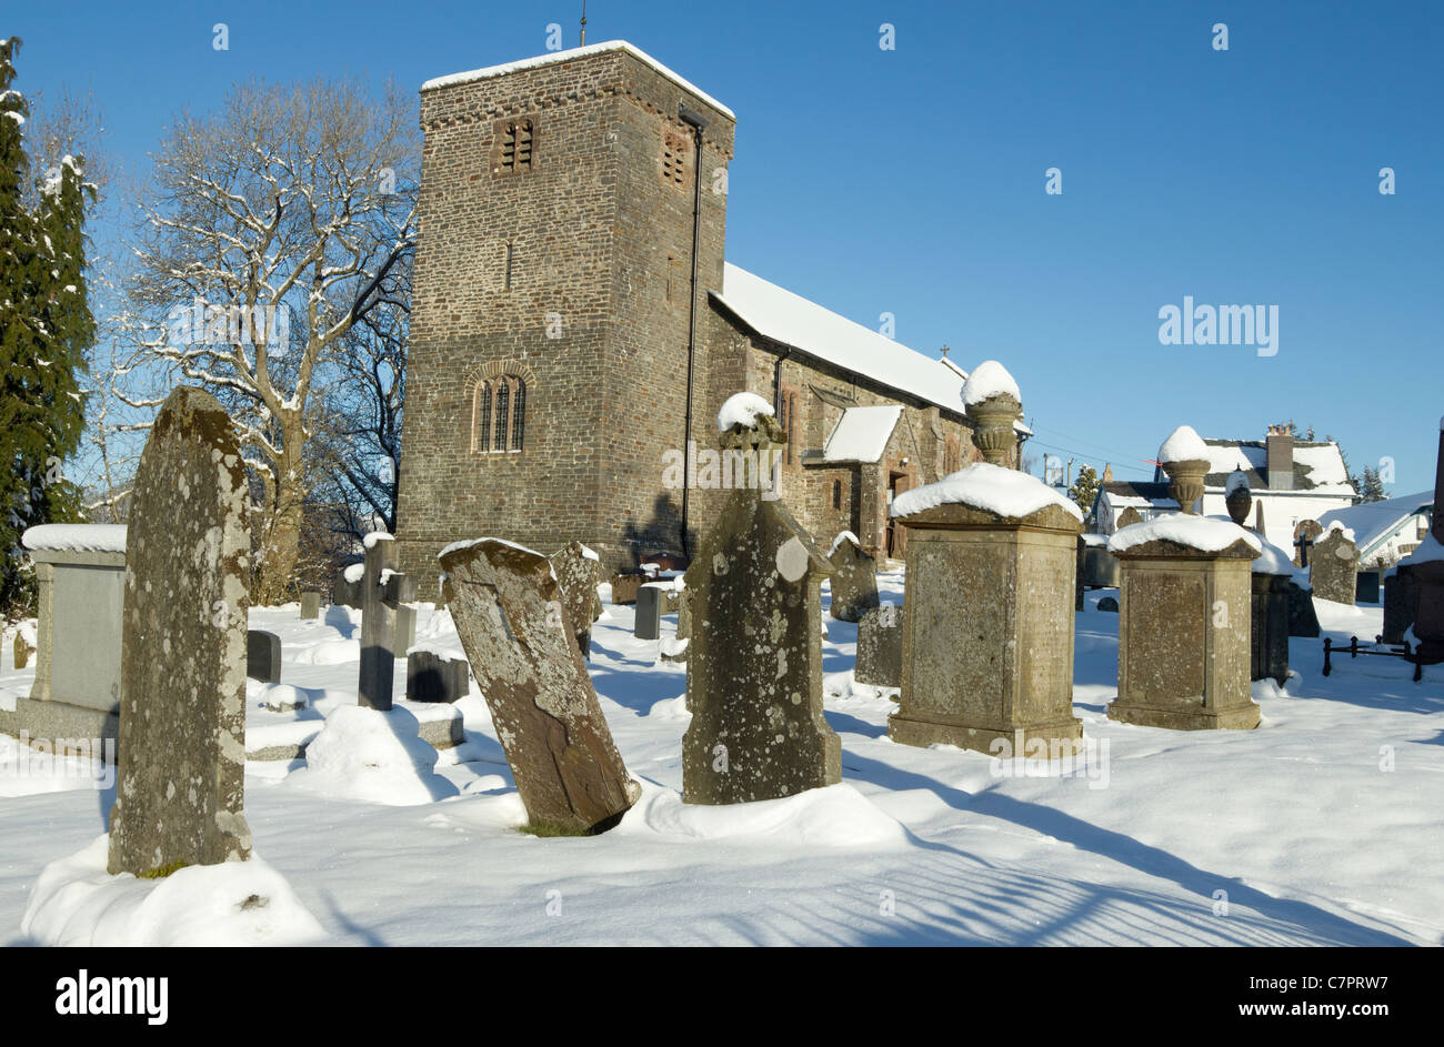
[[[723,404],[718,426],[723,449],[771,455],[783,445],[771,407],[749,393]],[[842,780],[842,742],[822,712],[822,581],[830,575],[771,491],[731,495],[684,576],[686,803],[773,800]]]

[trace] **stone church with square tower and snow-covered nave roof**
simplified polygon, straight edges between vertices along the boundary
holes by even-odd
[[[728,491],[666,466],[716,448],[738,391],[773,404],[781,497],[825,547],[900,556],[892,498],[980,458],[946,352],[725,260],[736,117],[630,43],[429,81],[420,123],[397,553],[423,598],[479,536],[690,559]]]

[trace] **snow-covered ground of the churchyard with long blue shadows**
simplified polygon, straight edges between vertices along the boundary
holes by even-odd
[[[900,602],[901,575],[879,581]],[[657,641],[632,638],[632,608],[608,602],[592,677],[644,786],[621,826],[591,839],[517,832],[524,812],[474,693],[458,706],[466,742],[435,767],[414,738],[397,742],[394,787],[349,781],[344,758],[251,761],[256,852],[331,943],[1440,944],[1444,667],[1415,685],[1404,661],[1344,654],[1326,679],[1321,640],[1294,640],[1300,676],[1287,695],[1256,687],[1258,731],[1115,724],[1118,615],[1095,609],[1100,595],[1077,615],[1074,712],[1090,752],[1067,777],[892,744],[894,703],[851,683],[856,627],[829,620],[843,783],[686,806],[684,669],[660,663]],[[1380,625],[1378,608],[1320,601],[1318,614],[1341,640]],[[253,611],[251,625],[282,635],[282,679],[297,692],[253,685],[248,750],[308,741],[323,713],[355,702],[357,615],[300,622],[293,605]],[[459,648],[435,612],[422,612],[417,643]],[[0,700],[33,679],[10,659],[4,644]],[[300,711],[261,708],[297,693]],[[48,864],[94,864],[79,852],[114,797],[66,777],[75,761],[20,774],[19,755],[0,738],[0,943],[25,940]]]

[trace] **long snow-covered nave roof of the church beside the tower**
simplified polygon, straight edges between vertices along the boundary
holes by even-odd
[[[956,414],[963,413],[967,375],[960,368],[924,357],[731,261],[722,273],[722,293],[713,292],[713,297],[764,338]]]

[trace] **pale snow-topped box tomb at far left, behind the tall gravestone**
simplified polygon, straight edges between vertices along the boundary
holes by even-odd
[[[120,708],[126,527],[42,524],[20,539],[35,565],[35,683],[0,731],[33,738],[114,739]],[[17,648],[19,650],[19,648]],[[22,667],[16,660],[16,667]]]

